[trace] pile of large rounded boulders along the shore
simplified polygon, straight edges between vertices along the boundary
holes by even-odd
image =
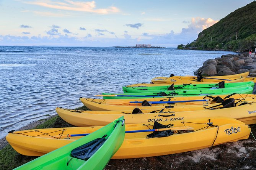
[[[250,72],[249,76],[256,76],[256,58],[248,53],[222,55],[215,59],[207,59],[203,66],[194,72],[196,75],[216,76],[233,75]]]

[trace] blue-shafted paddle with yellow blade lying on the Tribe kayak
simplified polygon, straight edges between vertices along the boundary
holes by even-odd
[[[192,130],[192,129],[194,129],[194,128],[193,127],[189,127],[189,126],[183,126],[183,127],[171,127],[171,128],[161,128],[161,129],[131,130],[131,131],[126,131],[126,133],[157,132],[157,131],[165,131],[165,130],[177,131],[177,130]],[[73,134],[73,135],[68,135],[68,137],[86,136],[86,135],[89,135],[89,134],[90,133]]]

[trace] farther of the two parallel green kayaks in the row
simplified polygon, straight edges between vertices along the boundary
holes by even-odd
[[[239,82],[239,83],[211,83],[211,84],[183,84],[183,85],[165,85],[165,86],[152,86],[152,87],[131,87],[124,86],[124,93],[143,93],[143,92],[154,92],[154,91],[166,91],[166,90],[207,90],[215,88],[240,88],[240,87],[254,87],[254,82]]]

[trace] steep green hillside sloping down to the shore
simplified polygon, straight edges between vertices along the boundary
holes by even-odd
[[[254,50],[255,46],[256,1],[235,10],[213,26],[203,30],[198,38],[185,48],[248,51],[249,48]],[[182,45],[178,48],[181,49]]]

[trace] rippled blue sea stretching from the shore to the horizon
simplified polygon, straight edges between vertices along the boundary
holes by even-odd
[[[210,58],[231,52],[174,48],[0,47],[0,138],[80,97],[121,93],[153,77],[193,75]]]

